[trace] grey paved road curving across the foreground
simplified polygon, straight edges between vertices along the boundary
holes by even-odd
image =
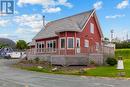
[[[43,74],[9,67],[0,60],[0,87],[130,87],[130,80]]]

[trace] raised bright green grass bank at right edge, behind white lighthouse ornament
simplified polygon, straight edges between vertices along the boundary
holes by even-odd
[[[130,59],[130,49],[116,49],[115,57],[122,56],[123,59]]]

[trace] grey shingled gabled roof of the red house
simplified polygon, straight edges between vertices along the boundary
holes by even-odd
[[[64,31],[80,32],[94,12],[95,10],[90,10],[80,14],[49,22],[45,26],[45,29],[41,29],[41,31],[33,39],[35,40],[56,37],[56,33]]]

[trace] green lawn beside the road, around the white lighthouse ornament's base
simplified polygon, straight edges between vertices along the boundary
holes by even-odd
[[[96,69],[90,69],[86,75],[89,76],[103,76],[103,77],[118,77],[119,72],[125,72],[125,77],[130,77],[130,59],[124,60],[124,70],[117,70],[116,66],[100,66]]]

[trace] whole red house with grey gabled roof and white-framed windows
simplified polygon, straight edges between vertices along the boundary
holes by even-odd
[[[63,58],[99,53],[103,46],[103,33],[95,10],[49,22],[29,46],[29,53],[35,56],[51,54]]]

